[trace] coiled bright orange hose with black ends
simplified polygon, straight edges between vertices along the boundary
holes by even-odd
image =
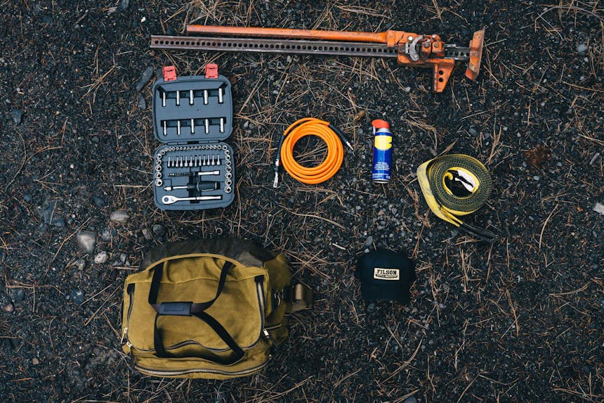
[[[294,158],[294,146],[304,136],[320,137],[327,144],[327,157],[316,167],[304,167],[298,164]],[[276,188],[279,181],[280,165],[283,165],[291,177],[303,184],[320,184],[327,181],[338,172],[342,165],[343,144],[346,144],[351,150],[353,149],[343,133],[329,122],[314,117],[296,120],[285,129],[277,148],[273,187]]]

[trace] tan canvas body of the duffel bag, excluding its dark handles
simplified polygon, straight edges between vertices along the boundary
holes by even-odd
[[[157,302],[206,302],[216,295],[227,262],[232,268],[223,290],[205,311],[245,352],[239,361],[225,365],[215,358],[228,359],[233,351],[209,324],[196,316],[157,316],[149,293],[154,271],[161,265]],[[145,255],[141,267],[126,278],[122,320],[122,348],[141,373],[171,378],[247,376],[263,369],[271,347],[287,338],[285,315],[291,304],[273,298],[291,283],[281,254],[251,241],[215,238],[160,245]],[[161,329],[171,357],[158,357],[154,325]]]

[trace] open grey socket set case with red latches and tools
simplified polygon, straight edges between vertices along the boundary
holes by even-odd
[[[232,133],[231,88],[217,71],[169,78],[164,68],[153,85],[153,133],[164,143],[154,154],[153,193],[162,210],[226,207],[235,198],[232,148],[223,143]]]

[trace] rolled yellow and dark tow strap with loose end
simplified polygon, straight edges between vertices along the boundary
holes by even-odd
[[[491,231],[457,217],[478,210],[491,194],[491,176],[479,160],[464,154],[443,155],[419,165],[417,179],[428,207],[437,217],[483,241],[494,241],[496,236]]]

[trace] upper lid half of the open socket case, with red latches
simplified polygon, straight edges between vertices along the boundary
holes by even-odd
[[[205,76],[183,77],[176,77],[176,73],[171,74],[171,70],[164,68],[164,78],[158,79],[152,88],[153,134],[157,140],[169,144],[210,143],[231,135],[230,82],[218,75],[218,68],[208,67],[211,65],[206,66]],[[221,96],[219,91],[222,91]],[[191,95],[194,97],[192,103]],[[221,118],[224,118],[223,122]]]

